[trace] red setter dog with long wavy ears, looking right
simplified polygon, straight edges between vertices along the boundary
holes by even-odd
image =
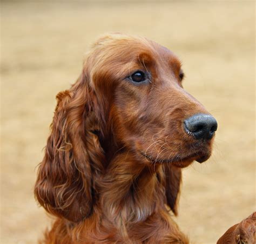
[[[57,219],[45,243],[188,243],[181,168],[204,162],[216,120],[183,89],[179,59],[141,37],[99,39],[58,93],[35,195]]]

